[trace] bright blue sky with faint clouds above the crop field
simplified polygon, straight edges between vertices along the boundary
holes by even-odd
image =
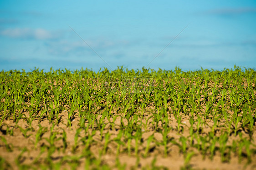
[[[0,0],[0,70],[256,69],[256,0]]]

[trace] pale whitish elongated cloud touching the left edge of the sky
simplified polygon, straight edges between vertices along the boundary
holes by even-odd
[[[32,40],[51,40],[59,38],[59,34],[54,34],[48,30],[44,29],[30,29],[30,28],[14,28],[5,29],[0,31],[0,35],[18,38],[18,39],[32,39]]]

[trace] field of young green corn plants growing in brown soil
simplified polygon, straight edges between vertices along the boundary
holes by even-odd
[[[0,170],[254,170],[256,70],[0,72]]]

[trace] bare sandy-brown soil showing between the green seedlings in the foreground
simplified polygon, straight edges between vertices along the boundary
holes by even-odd
[[[204,88],[204,87],[202,87]],[[202,99],[201,99],[202,100]],[[205,105],[202,105],[202,110],[205,110]],[[98,108],[99,109],[99,108]],[[168,108],[171,110],[171,108]],[[194,152],[191,160],[188,165],[184,165],[184,155],[178,145],[181,145],[182,142],[180,140],[181,137],[188,138],[189,137],[189,115],[184,113],[180,113],[181,116],[181,125],[178,131],[178,123],[173,114],[169,114],[169,124],[171,130],[168,133],[168,138],[172,139],[172,141],[176,141],[178,145],[175,145],[172,142],[167,144],[168,152],[167,156],[164,156],[164,146],[158,145],[163,142],[163,126],[166,122],[159,122],[158,128],[153,123],[153,114],[152,110],[154,110],[154,106],[148,106],[143,111],[143,116],[139,116],[138,122],[140,123],[140,128],[142,131],[141,142],[138,145],[138,154],[135,153],[135,145],[136,141],[134,139],[131,140],[131,153],[128,154],[128,143],[124,139],[125,135],[123,135],[120,141],[123,142],[123,145],[120,146],[119,151],[117,150],[118,143],[115,139],[118,138],[118,134],[120,130],[122,130],[123,125],[128,125],[128,120],[124,118],[124,115],[118,112],[118,110],[114,110],[112,113],[112,117],[110,120],[105,118],[104,122],[106,127],[102,131],[102,135],[99,130],[96,131],[96,134],[92,136],[92,143],[90,143],[90,147],[87,149],[90,150],[92,155],[94,155],[96,160],[100,161],[100,165],[108,165],[111,169],[115,169],[117,167],[117,162],[120,162],[120,165],[126,165],[125,169],[152,169],[153,167],[157,168],[167,168],[172,170],[178,170],[182,167],[185,169],[206,169],[206,170],[256,170],[256,148],[254,152],[251,154],[251,163],[248,164],[248,160],[246,158],[246,150],[242,150],[242,158],[239,160],[238,155],[230,152],[225,153],[226,159],[225,161],[221,160],[220,150],[216,150],[213,159],[210,159],[210,153],[205,153],[205,157],[203,154],[197,150],[195,147],[190,147],[190,141],[186,141],[187,143],[187,153]],[[173,110],[172,110],[173,111]],[[77,169],[85,169],[87,165],[87,156],[81,156],[84,153],[85,145],[82,142],[82,139],[90,135],[93,129],[97,126],[94,123],[93,127],[88,120],[85,121],[85,128],[89,127],[88,130],[81,130],[77,132],[77,129],[80,127],[79,113],[76,110],[76,114],[72,120],[72,124],[68,125],[68,112],[67,110],[62,111],[59,114],[60,121],[59,123],[53,124],[47,120],[46,118],[42,118],[40,121],[36,118],[32,121],[31,125],[26,121],[26,119],[21,119],[18,122],[14,122],[10,117],[9,120],[3,120],[0,136],[4,137],[7,140],[7,145],[3,140],[0,140],[0,157],[4,159],[6,162],[3,164],[4,169],[21,169],[18,165],[32,165],[32,167],[40,168],[41,165],[47,166],[47,151],[51,148],[51,144],[47,141],[47,139],[51,138],[51,135],[56,132],[56,138],[54,140],[53,145],[56,147],[56,150],[51,155],[51,160],[56,162],[56,164],[62,160],[61,169],[69,168],[70,162],[74,157],[78,157],[78,166]],[[24,117],[29,118],[29,114],[24,112]],[[98,114],[97,120],[101,117],[101,111],[95,112],[94,114]],[[138,113],[139,115],[140,113]],[[232,113],[231,113],[232,114]],[[206,136],[210,131],[212,131],[212,127],[214,125],[213,120],[207,119],[204,120],[203,112],[197,113],[194,117],[194,120],[197,117],[202,117],[202,121],[205,121],[205,124],[200,125],[199,131],[197,131],[196,123],[193,126],[194,134],[198,134],[200,136]],[[114,120],[114,117],[115,121]],[[111,122],[114,123],[113,128]],[[123,125],[122,125],[123,124]],[[222,130],[225,129],[227,125],[226,120],[221,120],[216,126],[214,131],[215,136],[220,136]],[[53,128],[52,128],[53,127]],[[52,129],[51,129],[52,128]],[[21,131],[21,129],[28,130],[26,135]],[[41,136],[41,140],[36,142],[36,134],[38,130],[45,130],[45,133]],[[13,132],[11,132],[13,130]],[[251,138],[254,143],[253,147],[256,145],[256,127],[254,125],[254,132],[251,135]],[[52,131],[52,132],[51,132]],[[64,150],[65,144],[62,140],[62,136],[64,131],[67,135],[67,149]],[[246,133],[246,129],[239,129],[243,138],[249,138],[248,133]],[[108,143],[108,147],[106,153],[102,154],[105,144],[106,134],[110,134],[110,139]],[[76,143],[76,134],[77,134],[77,143]],[[134,134],[132,134],[134,135]],[[149,143],[148,155],[144,156],[145,148],[148,145],[148,138],[153,135],[154,139]],[[189,139],[189,138],[188,138]],[[239,140],[239,135],[230,134],[227,144],[228,146],[232,146],[233,140]],[[86,140],[85,140],[86,142]],[[194,144],[197,144],[197,141],[193,141]],[[218,147],[219,144],[216,144]],[[44,149],[42,149],[44,148]],[[63,151],[64,150],[64,151]],[[65,159],[64,159],[65,158]],[[65,161],[63,161],[65,160]],[[154,161],[155,160],[155,161]],[[18,162],[18,163],[17,163]],[[9,166],[10,165],[10,166]],[[96,166],[97,167],[97,166]],[[93,168],[93,165],[90,166]]]

